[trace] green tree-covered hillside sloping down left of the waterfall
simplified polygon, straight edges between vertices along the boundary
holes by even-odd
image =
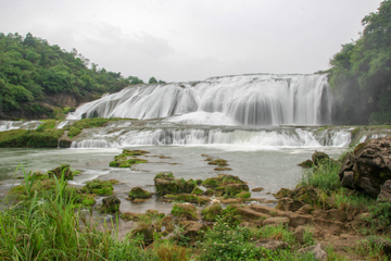
[[[76,49],[67,52],[30,33],[0,33],[0,119],[59,117],[81,102],[137,84],[142,79],[98,69]]]

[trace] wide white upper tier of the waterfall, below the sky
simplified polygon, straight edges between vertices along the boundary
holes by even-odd
[[[68,119],[189,115],[210,124],[205,115],[213,114],[226,125],[317,125],[331,123],[331,100],[324,74],[250,74],[128,87],[80,105]]]

